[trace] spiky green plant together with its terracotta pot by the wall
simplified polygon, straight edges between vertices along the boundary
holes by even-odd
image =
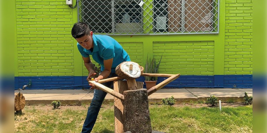
[[[144,73],[158,73],[158,68],[159,68],[161,59],[162,59],[162,55],[160,57],[160,60],[157,63],[154,56],[152,57],[152,60],[151,58],[149,58],[148,60],[148,56],[147,56]],[[157,80],[158,80],[158,77],[145,76],[145,83],[146,83],[147,90],[155,86],[157,83]]]

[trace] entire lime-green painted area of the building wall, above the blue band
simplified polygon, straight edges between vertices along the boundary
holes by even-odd
[[[70,9],[65,4],[65,0],[16,0],[18,71],[15,76],[88,75],[77,42],[71,37],[77,8]],[[252,74],[252,1],[226,0],[225,7],[224,1],[220,5],[223,30],[218,35],[112,37],[140,65],[147,54],[154,54],[157,59],[163,54],[160,73]]]

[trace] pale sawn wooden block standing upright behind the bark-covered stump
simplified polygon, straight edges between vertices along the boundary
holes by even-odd
[[[138,89],[143,88],[143,82],[136,82]],[[129,90],[127,81],[118,80],[114,82],[114,90],[123,94],[125,90]],[[123,100],[114,97],[114,125],[115,133],[125,132],[125,117],[123,115]]]

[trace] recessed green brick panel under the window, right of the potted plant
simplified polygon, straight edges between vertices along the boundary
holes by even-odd
[[[153,53],[156,59],[163,55],[159,73],[214,74],[214,42],[154,42]]]

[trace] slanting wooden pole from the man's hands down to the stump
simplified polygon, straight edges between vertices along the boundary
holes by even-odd
[[[109,94],[115,96],[116,98],[119,98],[120,100],[124,100],[124,96],[122,94],[110,89],[109,87],[106,87],[105,85],[102,85],[102,84],[95,82],[95,81],[88,81],[88,82],[90,84],[95,85],[98,89],[103,90],[104,92],[109,93]]]

